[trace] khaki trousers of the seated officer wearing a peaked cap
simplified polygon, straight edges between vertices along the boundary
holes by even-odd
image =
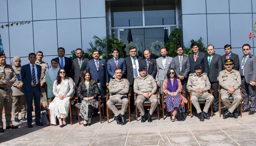
[[[236,110],[236,108],[238,107],[240,101],[241,101],[241,92],[240,89],[237,89],[231,96],[233,97],[233,102],[232,104],[229,101],[229,96],[230,93],[227,93],[226,90],[221,89],[221,100],[222,103],[225,105],[225,107],[227,107],[227,110],[229,110],[229,112],[233,113],[234,110]]]

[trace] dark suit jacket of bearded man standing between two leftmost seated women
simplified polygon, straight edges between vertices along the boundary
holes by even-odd
[[[89,61],[89,59],[87,59],[87,58],[82,59],[81,69],[80,69],[80,66],[79,66],[78,58],[75,58],[72,61],[71,77],[72,77],[72,79],[75,82],[77,87],[79,85],[79,82],[81,81],[81,76],[82,76],[83,70],[86,70],[86,65],[87,65],[88,61]]]

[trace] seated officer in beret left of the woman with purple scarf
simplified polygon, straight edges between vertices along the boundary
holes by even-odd
[[[146,66],[140,66],[140,76],[135,77],[133,83],[134,93],[137,93],[138,95],[136,99],[136,104],[142,115],[142,123],[146,122],[146,118],[148,122],[152,122],[151,115],[155,111],[155,108],[157,108],[158,104],[158,99],[155,95],[155,91],[157,90],[157,84],[153,76],[149,74],[147,75],[146,69]],[[143,108],[143,102],[145,100],[149,100],[151,102],[150,111],[147,117],[145,116],[145,111]]]

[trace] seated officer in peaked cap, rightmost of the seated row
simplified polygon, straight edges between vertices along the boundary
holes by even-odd
[[[219,73],[219,85],[221,86],[221,100],[222,103],[227,107],[227,111],[223,114],[223,119],[229,117],[233,113],[234,118],[238,118],[236,109],[241,101],[240,85],[241,76],[237,70],[233,69],[233,60],[225,60],[225,70]],[[232,104],[229,101],[229,96],[232,96],[234,101]]]

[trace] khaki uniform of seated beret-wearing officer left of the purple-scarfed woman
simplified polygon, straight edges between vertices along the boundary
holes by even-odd
[[[158,104],[158,99],[157,99],[157,96],[155,95],[155,92],[157,90],[157,84],[155,83],[154,77],[151,75],[147,75],[144,78],[140,76],[135,77],[133,82],[133,89],[134,89],[134,93],[137,93],[138,95],[136,99],[136,104],[141,115],[144,116],[145,114],[144,107],[143,107],[143,103],[145,100],[149,100],[151,102],[149,113],[150,115],[152,115]],[[142,95],[142,93],[145,93],[145,92],[152,92],[153,95],[149,99],[146,99],[146,97]]]

